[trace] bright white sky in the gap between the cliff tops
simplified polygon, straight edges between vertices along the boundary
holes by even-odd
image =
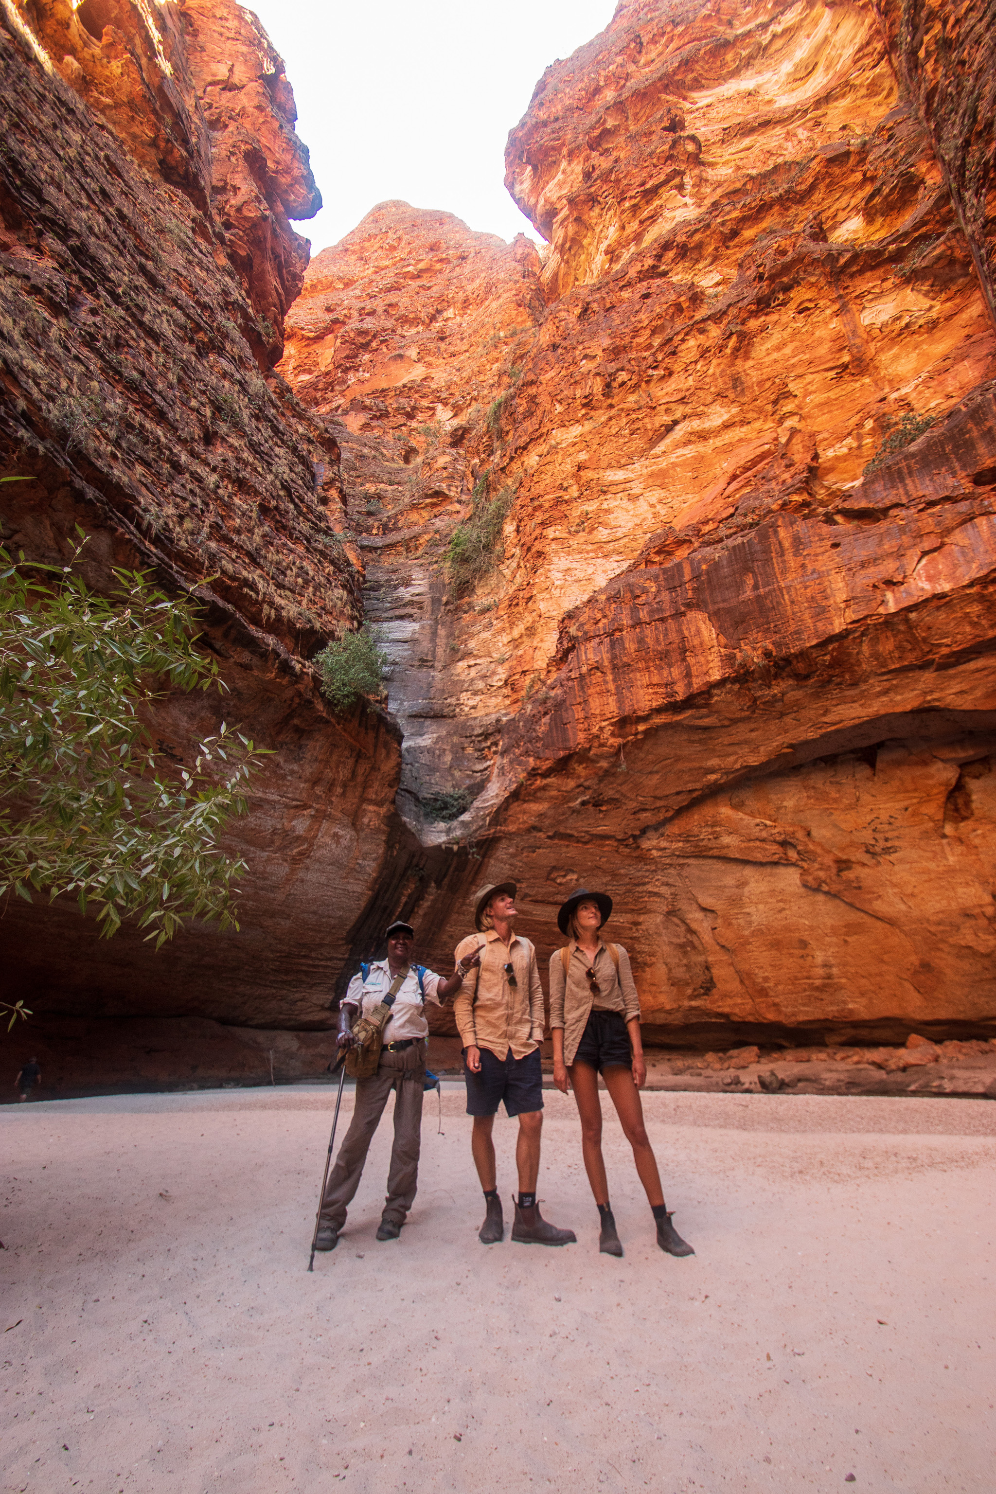
[[[603,30],[615,0],[243,3],[297,99],[326,203],[297,224],[314,252],[390,197],[503,239],[538,238],[505,191],[505,140],[544,67]]]

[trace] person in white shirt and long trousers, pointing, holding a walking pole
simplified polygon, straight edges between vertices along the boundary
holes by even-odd
[[[334,1167],[329,1174],[321,1206],[317,1250],[334,1250],[346,1222],[346,1207],[352,1203],[373,1132],[378,1128],[391,1089],[394,1098],[394,1144],[387,1179],[384,1215],[378,1225],[378,1240],[397,1240],[412,1207],[418,1185],[418,1152],[423,1123],[423,1088],[426,1080],[426,1001],[441,1005],[460,989],[463,976],[443,980],[423,965],[412,965],[415,931],[411,923],[391,923],[385,932],[387,959],[364,965],[349,982],[339,1007],[337,1046],[354,1046],[352,1019],[363,1020],[385,999],[390,1019],[381,1032],[382,1047],[376,1070],[357,1079],[352,1122],[345,1134]]]

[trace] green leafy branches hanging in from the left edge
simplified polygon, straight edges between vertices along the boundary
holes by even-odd
[[[190,769],[163,771],[142,720],[154,684],[221,689],[218,665],[194,651],[190,602],[113,575],[105,598],[0,550],[0,896],[72,892],[105,937],[134,917],[158,949],[184,917],[239,926],[245,862],[218,838],[246,813],[260,753],[222,726]]]

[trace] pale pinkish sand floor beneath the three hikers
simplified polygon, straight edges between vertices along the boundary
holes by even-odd
[[[990,1101],[648,1095],[699,1253],[653,1243],[612,1119],[614,1261],[558,1094],[541,1197],[579,1243],[478,1243],[451,1089],[402,1240],[373,1239],[382,1123],[309,1276],[332,1101],[3,1112],[4,1490],[996,1488]]]

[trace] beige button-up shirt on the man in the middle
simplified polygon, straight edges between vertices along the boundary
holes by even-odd
[[[494,929],[469,934],[457,944],[457,959],[481,950],[481,964],[469,970],[452,1002],[457,1031],[464,1047],[487,1047],[505,1058],[511,1047],[515,1058],[526,1058],[544,1038],[544,988],[539,985],[536,950],[527,938],[512,932],[503,944]],[[505,965],[512,965],[515,986],[509,986]]]

